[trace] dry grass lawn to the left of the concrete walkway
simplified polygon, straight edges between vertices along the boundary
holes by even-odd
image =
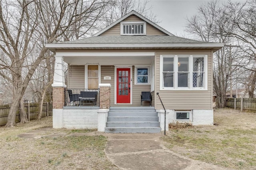
[[[48,126],[52,126],[52,117],[23,125],[18,123],[15,128],[0,128],[0,169],[117,169],[104,153],[107,138],[90,132],[95,129],[50,128],[38,131],[36,138],[18,137],[19,134]],[[90,135],[70,135],[77,132],[89,132]],[[56,137],[45,137],[47,134]]]

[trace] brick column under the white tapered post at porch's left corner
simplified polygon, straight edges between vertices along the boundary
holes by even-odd
[[[64,90],[64,87],[52,88],[52,109],[63,109],[63,106],[65,104]]]

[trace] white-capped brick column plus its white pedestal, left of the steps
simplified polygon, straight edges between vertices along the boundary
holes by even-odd
[[[108,112],[110,108],[110,87],[111,84],[99,84],[100,87],[100,109],[98,112],[98,131],[105,132]]]

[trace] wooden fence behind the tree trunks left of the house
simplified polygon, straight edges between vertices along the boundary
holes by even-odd
[[[28,121],[32,119],[37,119],[39,104],[24,103],[24,106],[25,106],[25,111],[27,114]],[[10,111],[10,105],[0,106],[0,126],[5,125],[7,123],[9,111]],[[42,117],[46,117],[46,116],[52,116],[52,103],[50,102],[43,104]],[[15,121],[16,123],[20,122],[19,110],[16,113]]]

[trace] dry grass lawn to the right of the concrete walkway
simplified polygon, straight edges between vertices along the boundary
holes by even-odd
[[[169,129],[170,150],[231,169],[256,170],[256,113],[214,110],[215,126]]]

